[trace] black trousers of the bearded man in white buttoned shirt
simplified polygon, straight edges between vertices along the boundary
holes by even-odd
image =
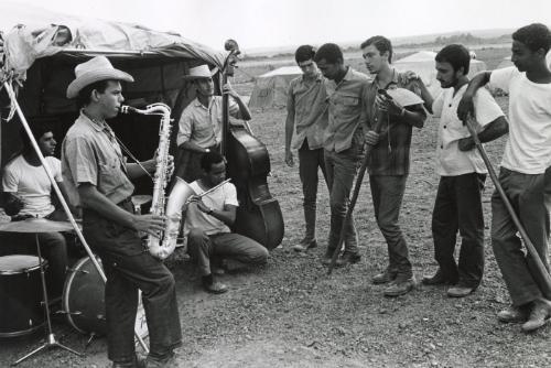
[[[484,273],[484,214],[482,192],[485,174],[441,176],[432,212],[434,258],[453,283],[477,288]],[[457,231],[462,241],[458,266],[454,259]]]

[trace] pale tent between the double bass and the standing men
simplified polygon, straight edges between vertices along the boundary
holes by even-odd
[[[282,66],[257,78],[249,100],[250,108],[287,106],[287,89],[292,79],[302,75],[299,66]]]

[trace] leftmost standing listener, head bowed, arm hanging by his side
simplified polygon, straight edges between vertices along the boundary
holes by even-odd
[[[293,166],[291,147],[299,150],[299,173],[304,196],[304,220],[306,231],[300,243],[293,247],[305,251],[317,246],[315,238],[317,167],[322,169],[325,181],[323,159],[323,132],[327,127],[324,78],[314,63],[314,47],[300,46],[294,58],[303,75],[291,80],[287,99],[285,120],[285,163]],[[316,113],[320,110],[322,113]],[[293,133],[296,130],[296,134]]]

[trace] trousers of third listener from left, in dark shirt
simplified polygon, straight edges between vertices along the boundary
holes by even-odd
[[[398,225],[408,175],[369,175],[375,219],[387,240],[390,272],[411,278],[408,245]]]

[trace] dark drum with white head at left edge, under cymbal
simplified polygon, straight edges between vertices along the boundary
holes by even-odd
[[[47,267],[47,261],[42,260]],[[40,259],[35,256],[0,257],[0,337],[20,336],[44,324]]]

